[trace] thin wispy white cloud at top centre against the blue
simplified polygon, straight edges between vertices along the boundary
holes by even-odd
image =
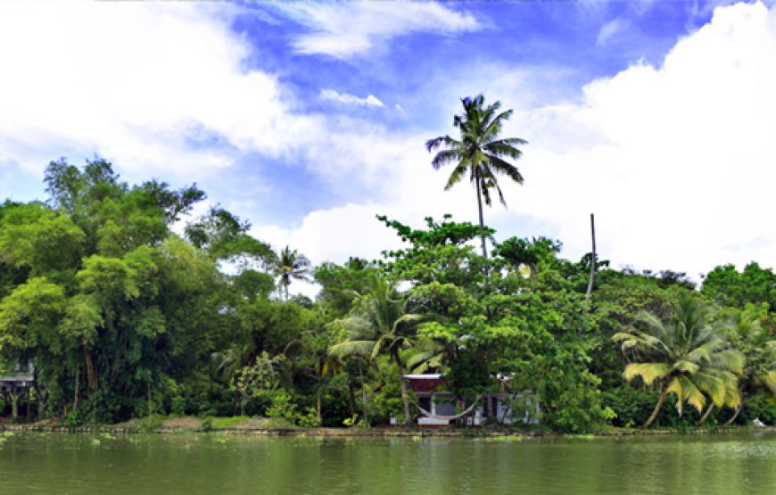
[[[293,40],[297,53],[341,59],[366,55],[392,37],[412,32],[450,35],[483,27],[472,14],[435,3],[299,2],[275,6],[313,31]]]

